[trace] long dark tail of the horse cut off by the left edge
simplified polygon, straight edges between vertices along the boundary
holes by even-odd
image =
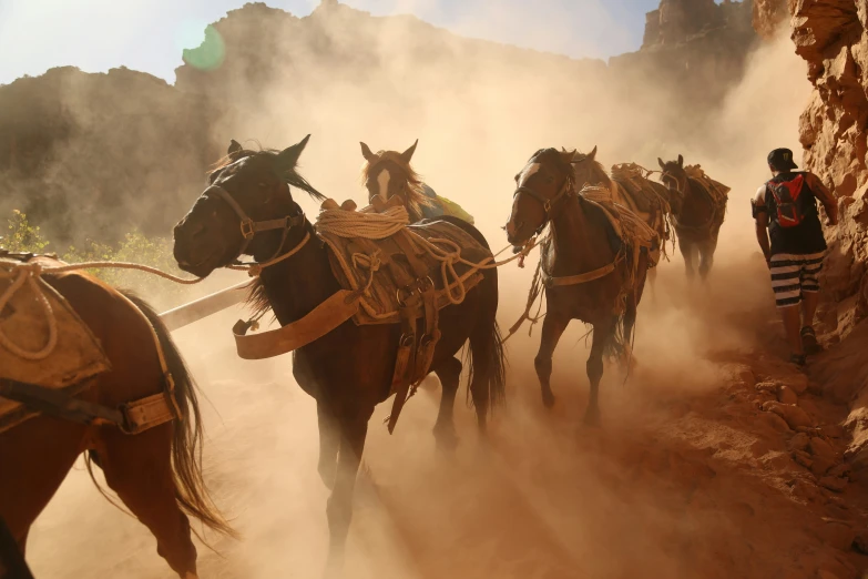
[[[175,484],[175,500],[184,512],[201,520],[206,527],[236,537],[237,534],[214,505],[202,477],[202,415],[193,377],[160,315],[141,297],[129,292],[122,293],[154,328],[166,367],[175,383],[175,399],[181,413],[181,419],[176,419],[172,425],[172,478]]]

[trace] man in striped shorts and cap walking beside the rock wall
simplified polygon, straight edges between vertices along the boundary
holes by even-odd
[[[772,179],[750,200],[756,238],[772,274],[790,362],[804,366],[806,355],[821,349],[814,331],[814,313],[819,303],[826,238],[817,201],[826,210],[828,225],[838,223],[838,205],[817,175],[796,171],[798,165],[789,149],[772,151],[768,169]]]

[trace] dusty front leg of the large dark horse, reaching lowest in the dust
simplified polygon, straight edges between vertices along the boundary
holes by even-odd
[[[353,520],[353,492],[356,488],[356,475],[365,450],[368,435],[368,420],[374,408],[359,410],[355,416],[340,420],[340,451],[338,454],[337,476],[331,496],[328,498],[329,546],[326,576],[339,576],[344,566],[344,548],[347,544],[349,524]]]

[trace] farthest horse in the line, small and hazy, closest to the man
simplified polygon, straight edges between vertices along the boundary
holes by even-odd
[[[677,161],[664,163],[657,159],[657,162],[661,181],[682,199],[678,207],[673,206],[672,214],[687,277],[694,277],[694,263],[698,258],[699,277],[705,281],[714,265],[717,235],[726,216],[726,197],[714,199],[703,183],[690,176],[682,155]]]

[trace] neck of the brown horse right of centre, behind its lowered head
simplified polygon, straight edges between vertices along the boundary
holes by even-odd
[[[571,194],[551,220],[554,267],[583,273],[602,267],[613,258],[605,225],[590,219],[588,201]],[[560,275],[560,272],[552,272]]]

